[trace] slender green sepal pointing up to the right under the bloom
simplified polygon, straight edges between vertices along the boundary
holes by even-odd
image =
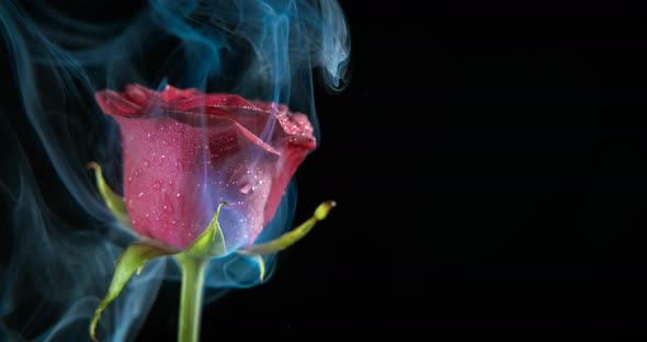
[[[247,249],[241,249],[238,251],[238,253],[242,255],[263,255],[282,251],[294,244],[296,241],[303,239],[310,230],[313,230],[315,224],[317,224],[320,220],[324,220],[326,216],[328,216],[328,213],[334,206],[336,203],[333,201],[324,202],[317,207],[313,217],[308,218],[300,226],[280,236],[274,240],[264,243],[253,244]]]

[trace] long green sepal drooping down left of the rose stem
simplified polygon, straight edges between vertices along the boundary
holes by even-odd
[[[101,318],[101,312],[120,295],[130,276],[133,276],[133,273],[137,271],[137,274],[139,274],[144,264],[151,259],[171,255],[178,252],[178,250],[171,247],[152,240],[135,242],[126,248],[116,261],[116,267],[107,294],[99,304],[99,307],[94,311],[94,317],[90,322],[90,338],[93,341],[98,341],[95,330],[97,323]]]

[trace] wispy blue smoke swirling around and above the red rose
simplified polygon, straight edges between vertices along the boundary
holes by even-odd
[[[78,14],[89,9],[105,18]],[[317,132],[314,82],[343,88],[350,56],[343,13],[326,0],[2,1],[0,33],[0,82],[9,89],[0,102],[0,340],[87,339],[114,260],[135,240],[86,168],[98,161],[122,191],[120,130],[97,106],[98,90],[140,83],[237,93],[306,113]],[[295,204],[290,186],[259,241],[287,228]],[[178,272],[174,262],[148,263],[102,316],[102,340],[133,340],[161,281]],[[209,288],[257,283],[253,260],[229,255],[208,266]]]

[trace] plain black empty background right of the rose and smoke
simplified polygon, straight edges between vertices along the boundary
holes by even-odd
[[[295,223],[338,207],[223,333],[644,331],[645,20],[609,3],[343,1],[352,79],[316,94]],[[140,341],[174,341],[163,286]]]

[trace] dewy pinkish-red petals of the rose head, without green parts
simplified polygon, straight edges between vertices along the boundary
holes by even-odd
[[[175,248],[188,247],[223,201],[229,203],[219,217],[228,250],[249,246],[316,146],[307,116],[282,104],[139,84],[95,98],[121,127],[133,228]]]

